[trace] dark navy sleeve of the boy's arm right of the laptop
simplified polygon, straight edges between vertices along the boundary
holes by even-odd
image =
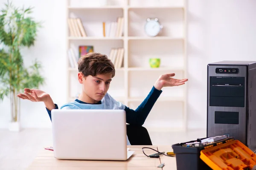
[[[157,90],[153,86],[148,96],[135,111],[125,106],[126,122],[131,125],[142,126],[161,93],[162,90]]]

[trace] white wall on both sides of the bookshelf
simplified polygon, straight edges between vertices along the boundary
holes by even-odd
[[[0,0],[0,7],[6,0]],[[64,0],[13,0],[35,6],[34,17],[44,20],[35,46],[24,50],[25,62],[37,57],[46,84],[40,89],[55,103],[66,99],[66,3]],[[256,60],[256,1],[188,0],[188,126],[206,128],[207,64],[221,60]],[[43,103],[22,101],[23,127],[50,127]],[[7,128],[9,100],[0,103],[0,128]]]

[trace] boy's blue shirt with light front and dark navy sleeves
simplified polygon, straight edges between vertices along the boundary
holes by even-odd
[[[128,108],[121,102],[117,102],[108,93],[98,103],[88,104],[76,99],[74,102],[69,102],[61,106],[61,109],[123,109],[126,112],[126,122],[128,124],[142,126],[161,93],[162,90],[159,91],[153,86],[148,96],[136,110]],[[58,109],[58,105],[55,104],[55,107],[55,109]],[[52,120],[51,111],[47,109],[47,112]]]

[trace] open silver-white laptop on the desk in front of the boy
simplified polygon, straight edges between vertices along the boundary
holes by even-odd
[[[53,109],[52,140],[56,159],[125,161],[124,110]]]

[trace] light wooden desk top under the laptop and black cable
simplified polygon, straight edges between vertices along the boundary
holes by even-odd
[[[175,157],[160,156],[148,158],[142,152],[142,147],[151,147],[160,152],[172,152],[172,146],[128,146],[134,154],[127,161],[84,161],[84,160],[58,160],[53,151],[42,149],[28,170],[161,170],[157,167],[165,163],[163,170],[176,170]],[[154,150],[144,149],[150,155]]]

